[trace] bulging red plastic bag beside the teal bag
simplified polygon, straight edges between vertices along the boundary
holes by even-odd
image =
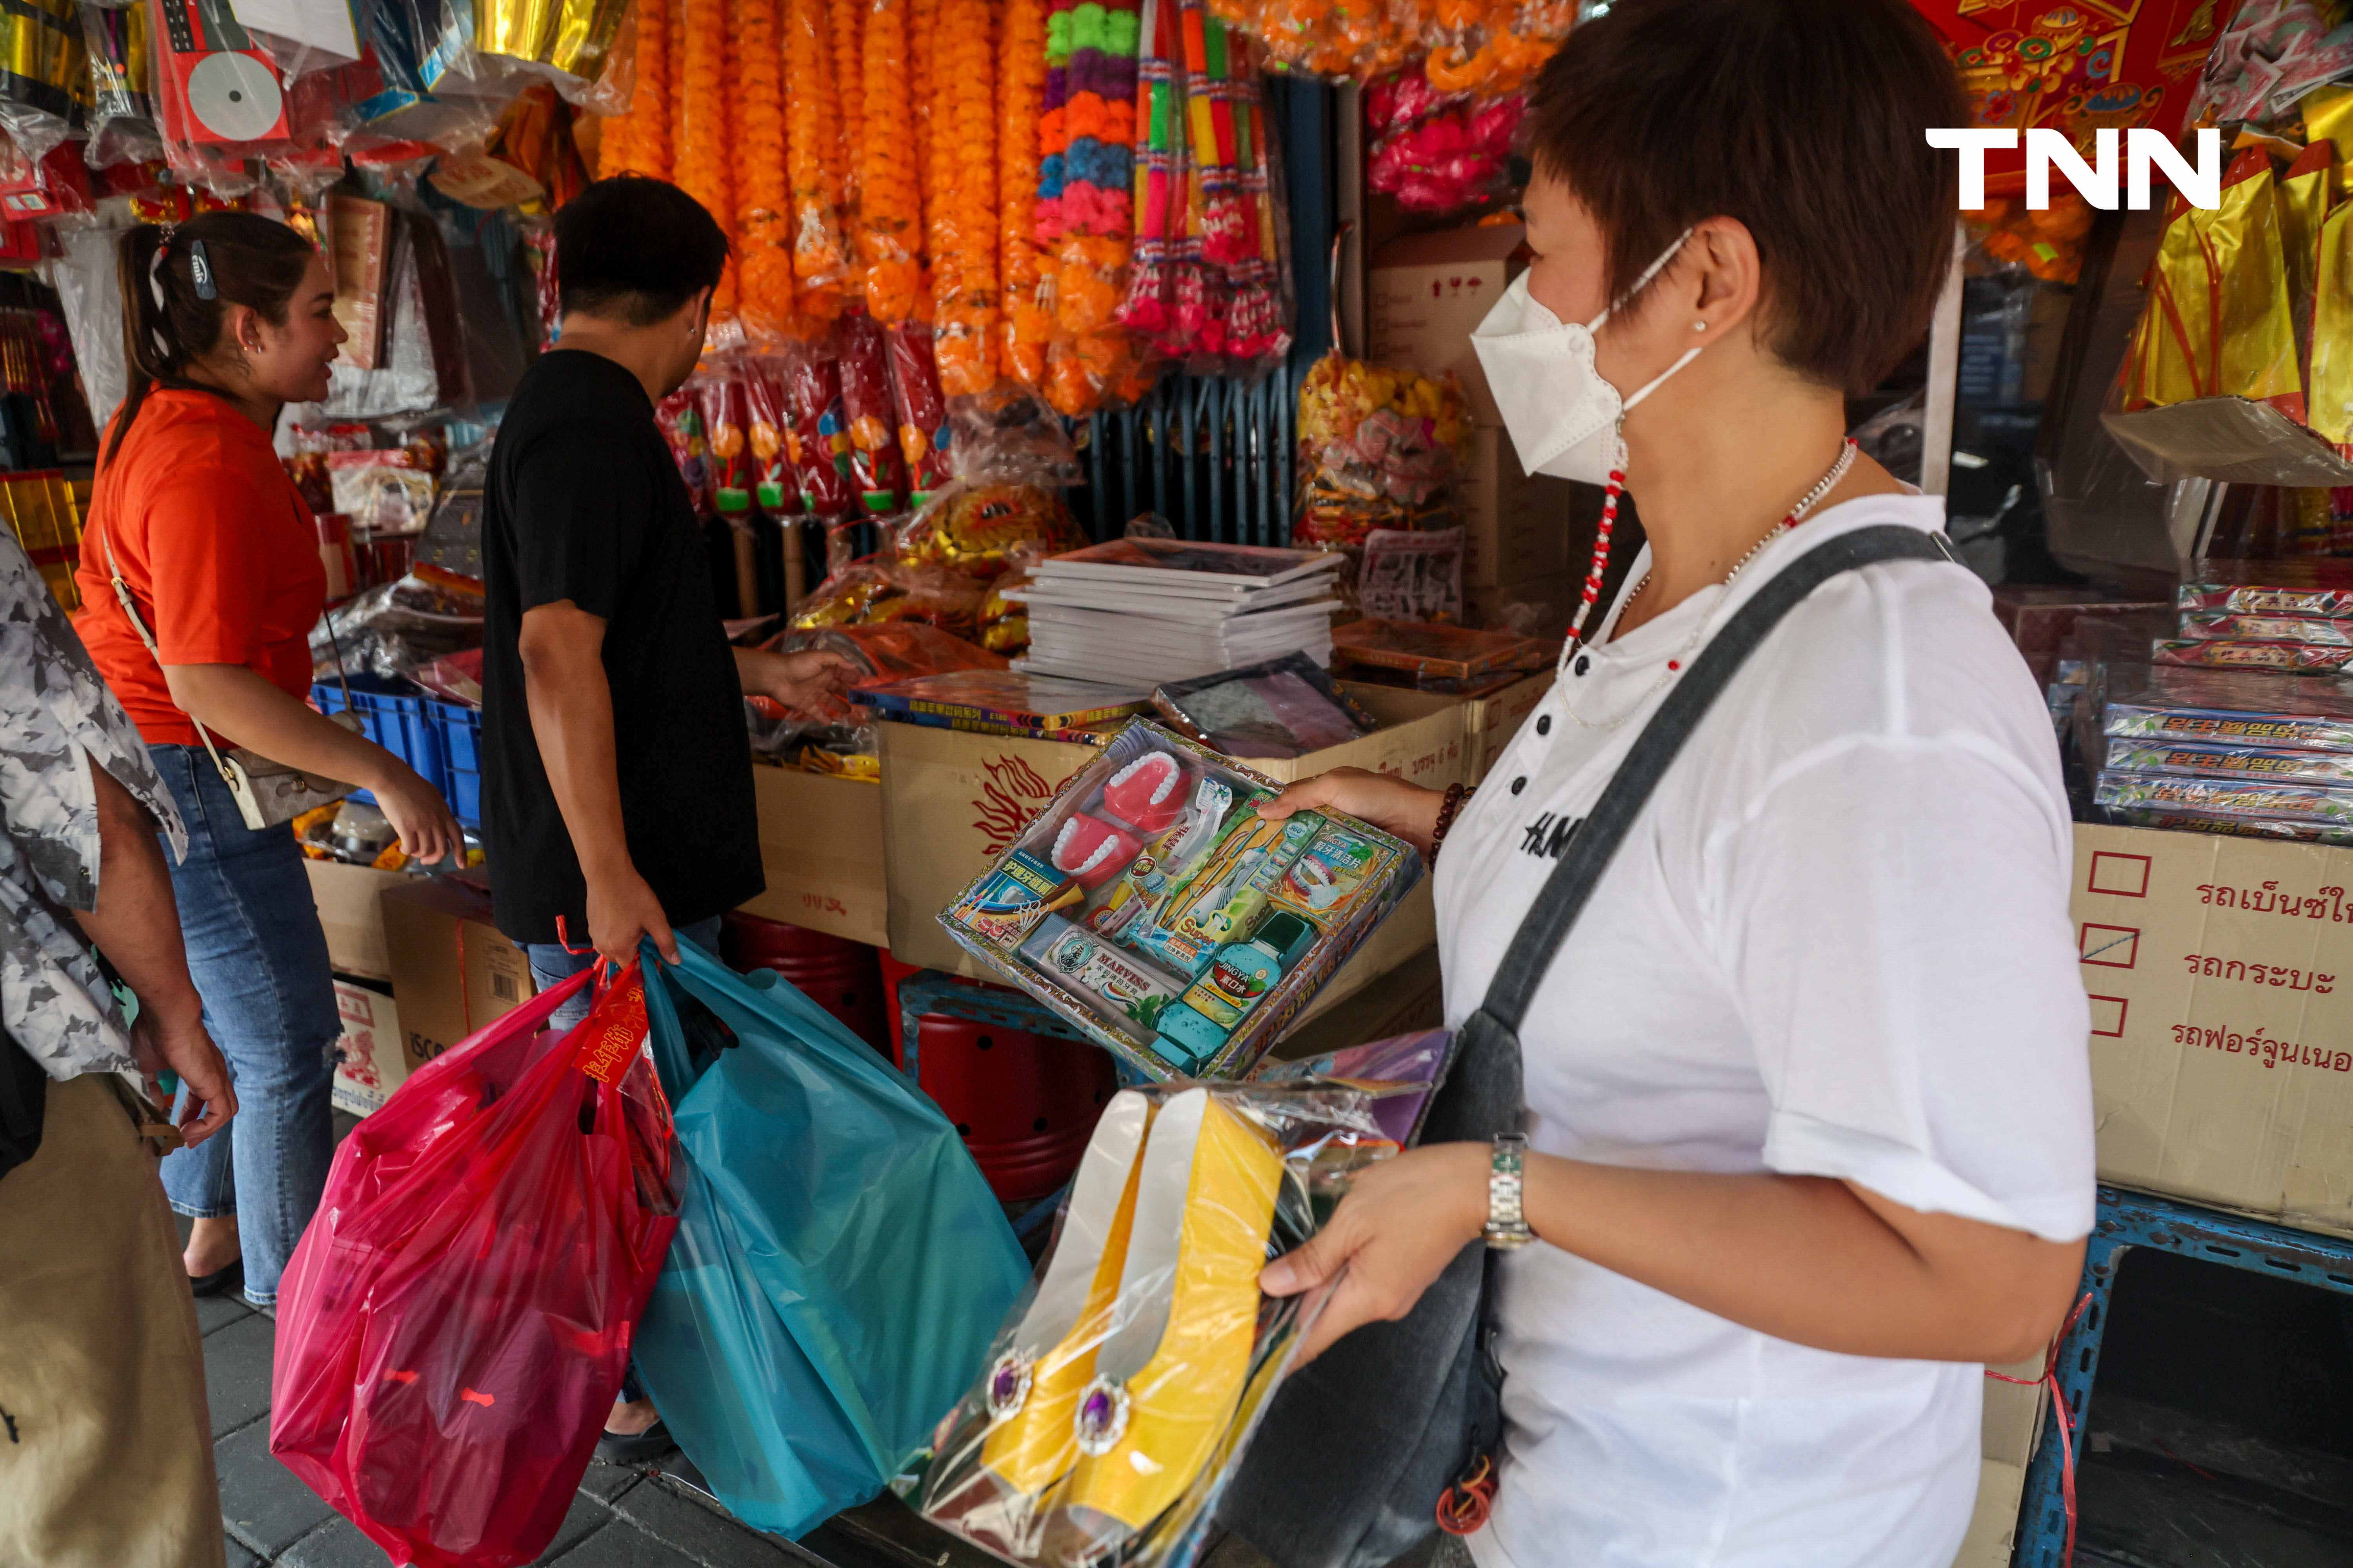
[[[567,985],[393,1091],[334,1157],[278,1295],[271,1453],[419,1568],[555,1537],[678,1227],[671,1105],[631,964]]]

